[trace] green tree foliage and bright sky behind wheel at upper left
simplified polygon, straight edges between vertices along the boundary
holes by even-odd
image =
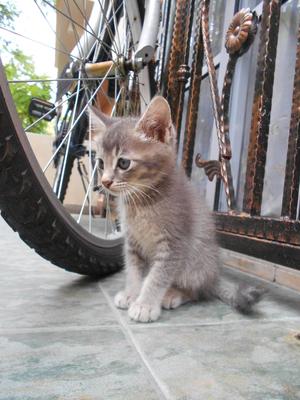
[[[15,6],[6,2],[0,4],[0,25],[13,28],[14,19],[19,15]],[[4,61],[4,69],[8,80],[36,80],[47,79],[45,75],[38,75],[35,72],[32,57],[24,54],[17,46],[10,42],[1,40],[1,53]],[[19,117],[23,127],[30,125],[36,118],[29,115],[29,103],[32,97],[39,97],[49,100],[51,97],[51,87],[49,82],[38,83],[11,83],[10,91],[14,99]],[[34,125],[30,131],[35,133],[45,133],[49,128],[49,123],[41,121]]]

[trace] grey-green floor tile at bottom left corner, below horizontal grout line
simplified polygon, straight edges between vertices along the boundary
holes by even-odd
[[[1,400],[157,400],[118,329],[0,336]]]

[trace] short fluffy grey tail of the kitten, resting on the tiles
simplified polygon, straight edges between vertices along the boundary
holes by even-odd
[[[235,308],[243,314],[249,314],[253,306],[265,295],[264,287],[246,284],[235,285],[225,278],[220,278],[213,289],[213,296]]]

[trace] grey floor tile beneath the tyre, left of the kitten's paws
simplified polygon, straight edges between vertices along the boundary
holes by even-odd
[[[1,244],[7,241],[0,253],[0,330],[116,325],[96,280],[52,265],[0,226]]]

